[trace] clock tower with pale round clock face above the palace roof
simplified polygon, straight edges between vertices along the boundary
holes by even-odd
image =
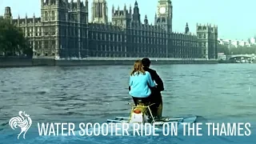
[[[162,26],[168,33],[172,32],[173,6],[170,0],[159,0],[154,24]]]

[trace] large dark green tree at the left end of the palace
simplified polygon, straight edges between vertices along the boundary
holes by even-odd
[[[23,36],[22,30],[10,23],[9,19],[0,18],[0,54],[16,56],[26,54],[31,56],[30,46]]]

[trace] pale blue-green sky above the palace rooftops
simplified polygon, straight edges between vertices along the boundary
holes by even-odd
[[[92,1],[89,0],[90,8]],[[135,0],[107,0],[107,2],[111,18],[113,4],[116,9],[118,6],[123,9],[125,3],[126,6],[134,6]],[[142,21],[147,14],[149,21],[154,23],[158,0],[137,0],[137,2]],[[172,0],[172,3],[174,31],[184,32],[188,22],[190,31],[195,33],[197,22],[208,22],[218,25],[219,38],[246,40],[256,34],[256,20],[253,13],[256,6],[255,0]],[[0,14],[4,13],[6,6],[11,7],[14,18],[17,18],[18,14],[22,18],[26,14],[28,17],[32,17],[33,14],[40,17],[40,0],[0,0]]]

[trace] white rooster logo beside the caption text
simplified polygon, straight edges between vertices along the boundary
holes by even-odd
[[[21,132],[18,134],[19,136],[23,133],[23,138],[25,138],[27,130],[30,129],[32,124],[32,119],[30,118],[29,114],[26,114],[25,111],[19,111],[18,116],[14,118],[10,118],[9,125],[10,127],[15,130],[20,127]]]

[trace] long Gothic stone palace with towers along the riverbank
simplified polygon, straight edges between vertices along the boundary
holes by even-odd
[[[197,24],[197,35],[188,24],[183,33],[172,31],[173,6],[158,0],[154,25],[139,13],[138,2],[112,7],[108,21],[106,0],[93,0],[91,20],[88,0],[41,0],[40,18],[4,18],[20,27],[29,39],[34,58],[217,58],[218,27]]]

